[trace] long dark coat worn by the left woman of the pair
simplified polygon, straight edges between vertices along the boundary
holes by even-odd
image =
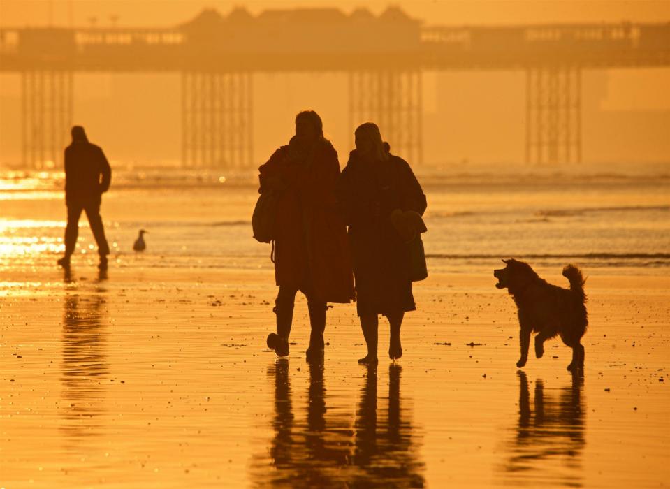
[[[354,300],[347,228],[337,212],[337,152],[321,139],[311,156],[296,161],[289,146],[275,151],[260,171],[261,189],[284,188],[277,203],[275,280],[326,302]]]

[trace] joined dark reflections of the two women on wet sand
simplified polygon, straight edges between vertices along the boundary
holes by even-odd
[[[422,487],[423,464],[418,461],[412,425],[400,406],[400,366],[389,368],[388,409],[377,419],[377,369],[367,367],[361,400],[352,423],[345,409],[326,407],[323,361],[309,363],[306,422],[293,415],[289,362],[277,360],[275,377],[275,435],[270,457],[277,486]],[[352,424],[354,429],[352,430]],[[265,478],[267,470],[259,467]]]

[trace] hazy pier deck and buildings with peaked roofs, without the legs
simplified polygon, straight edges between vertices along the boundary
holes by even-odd
[[[397,7],[227,15],[166,28],[4,27],[0,71],[335,71],[667,66],[670,22],[434,26]]]

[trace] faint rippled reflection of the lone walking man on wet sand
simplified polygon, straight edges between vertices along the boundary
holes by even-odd
[[[82,439],[95,435],[95,418],[104,409],[105,326],[101,321],[105,299],[99,295],[68,295],[64,301],[63,358],[61,386],[64,406],[62,428],[67,435]]]

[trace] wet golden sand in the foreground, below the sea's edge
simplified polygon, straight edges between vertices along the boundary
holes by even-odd
[[[480,272],[417,284],[405,357],[380,358],[376,376],[356,365],[354,305],[331,309],[323,369],[307,365],[303,298],[297,344],[275,363],[267,269],[112,267],[98,280],[82,266],[63,278],[9,269],[0,289],[7,488],[372,484],[393,460],[398,483],[432,487],[669,479],[667,277],[590,277],[583,383],[558,340],[517,373],[514,305]]]

